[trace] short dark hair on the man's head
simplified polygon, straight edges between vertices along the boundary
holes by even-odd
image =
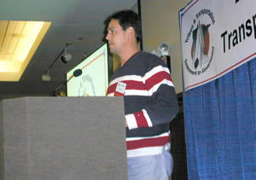
[[[103,32],[103,39],[105,39],[108,35],[108,24],[111,20],[119,20],[119,25],[123,28],[124,31],[128,27],[133,27],[137,43],[140,42],[142,38],[142,21],[137,13],[133,12],[132,10],[121,10],[114,13],[113,15],[109,15],[104,21],[105,28]]]

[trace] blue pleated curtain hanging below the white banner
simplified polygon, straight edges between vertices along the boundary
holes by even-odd
[[[189,179],[256,179],[256,58],[183,101]]]

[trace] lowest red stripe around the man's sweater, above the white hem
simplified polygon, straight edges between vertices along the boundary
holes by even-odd
[[[137,149],[137,148],[146,148],[146,147],[156,147],[164,146],[167,142],[171,142],[170,136],[160,136],[148,139],[141,139],[135,141],[126,142],[127,150]]]

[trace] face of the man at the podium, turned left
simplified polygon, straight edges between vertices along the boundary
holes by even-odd
[[[119,20],[111,20],[108,24],[108,34],[106,36],[110,52],[120,55],[127,43],[127,32],[119,25]]]

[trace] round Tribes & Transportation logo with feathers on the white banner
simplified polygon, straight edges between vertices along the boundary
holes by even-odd
[[[214,47],[211,46],[211,27],[215,20],[209,9],[202,9],[195,15],[185,44],[190,45],[191,53],[185,58],[184,64],[192,75],[206,73],[211,66]]]

